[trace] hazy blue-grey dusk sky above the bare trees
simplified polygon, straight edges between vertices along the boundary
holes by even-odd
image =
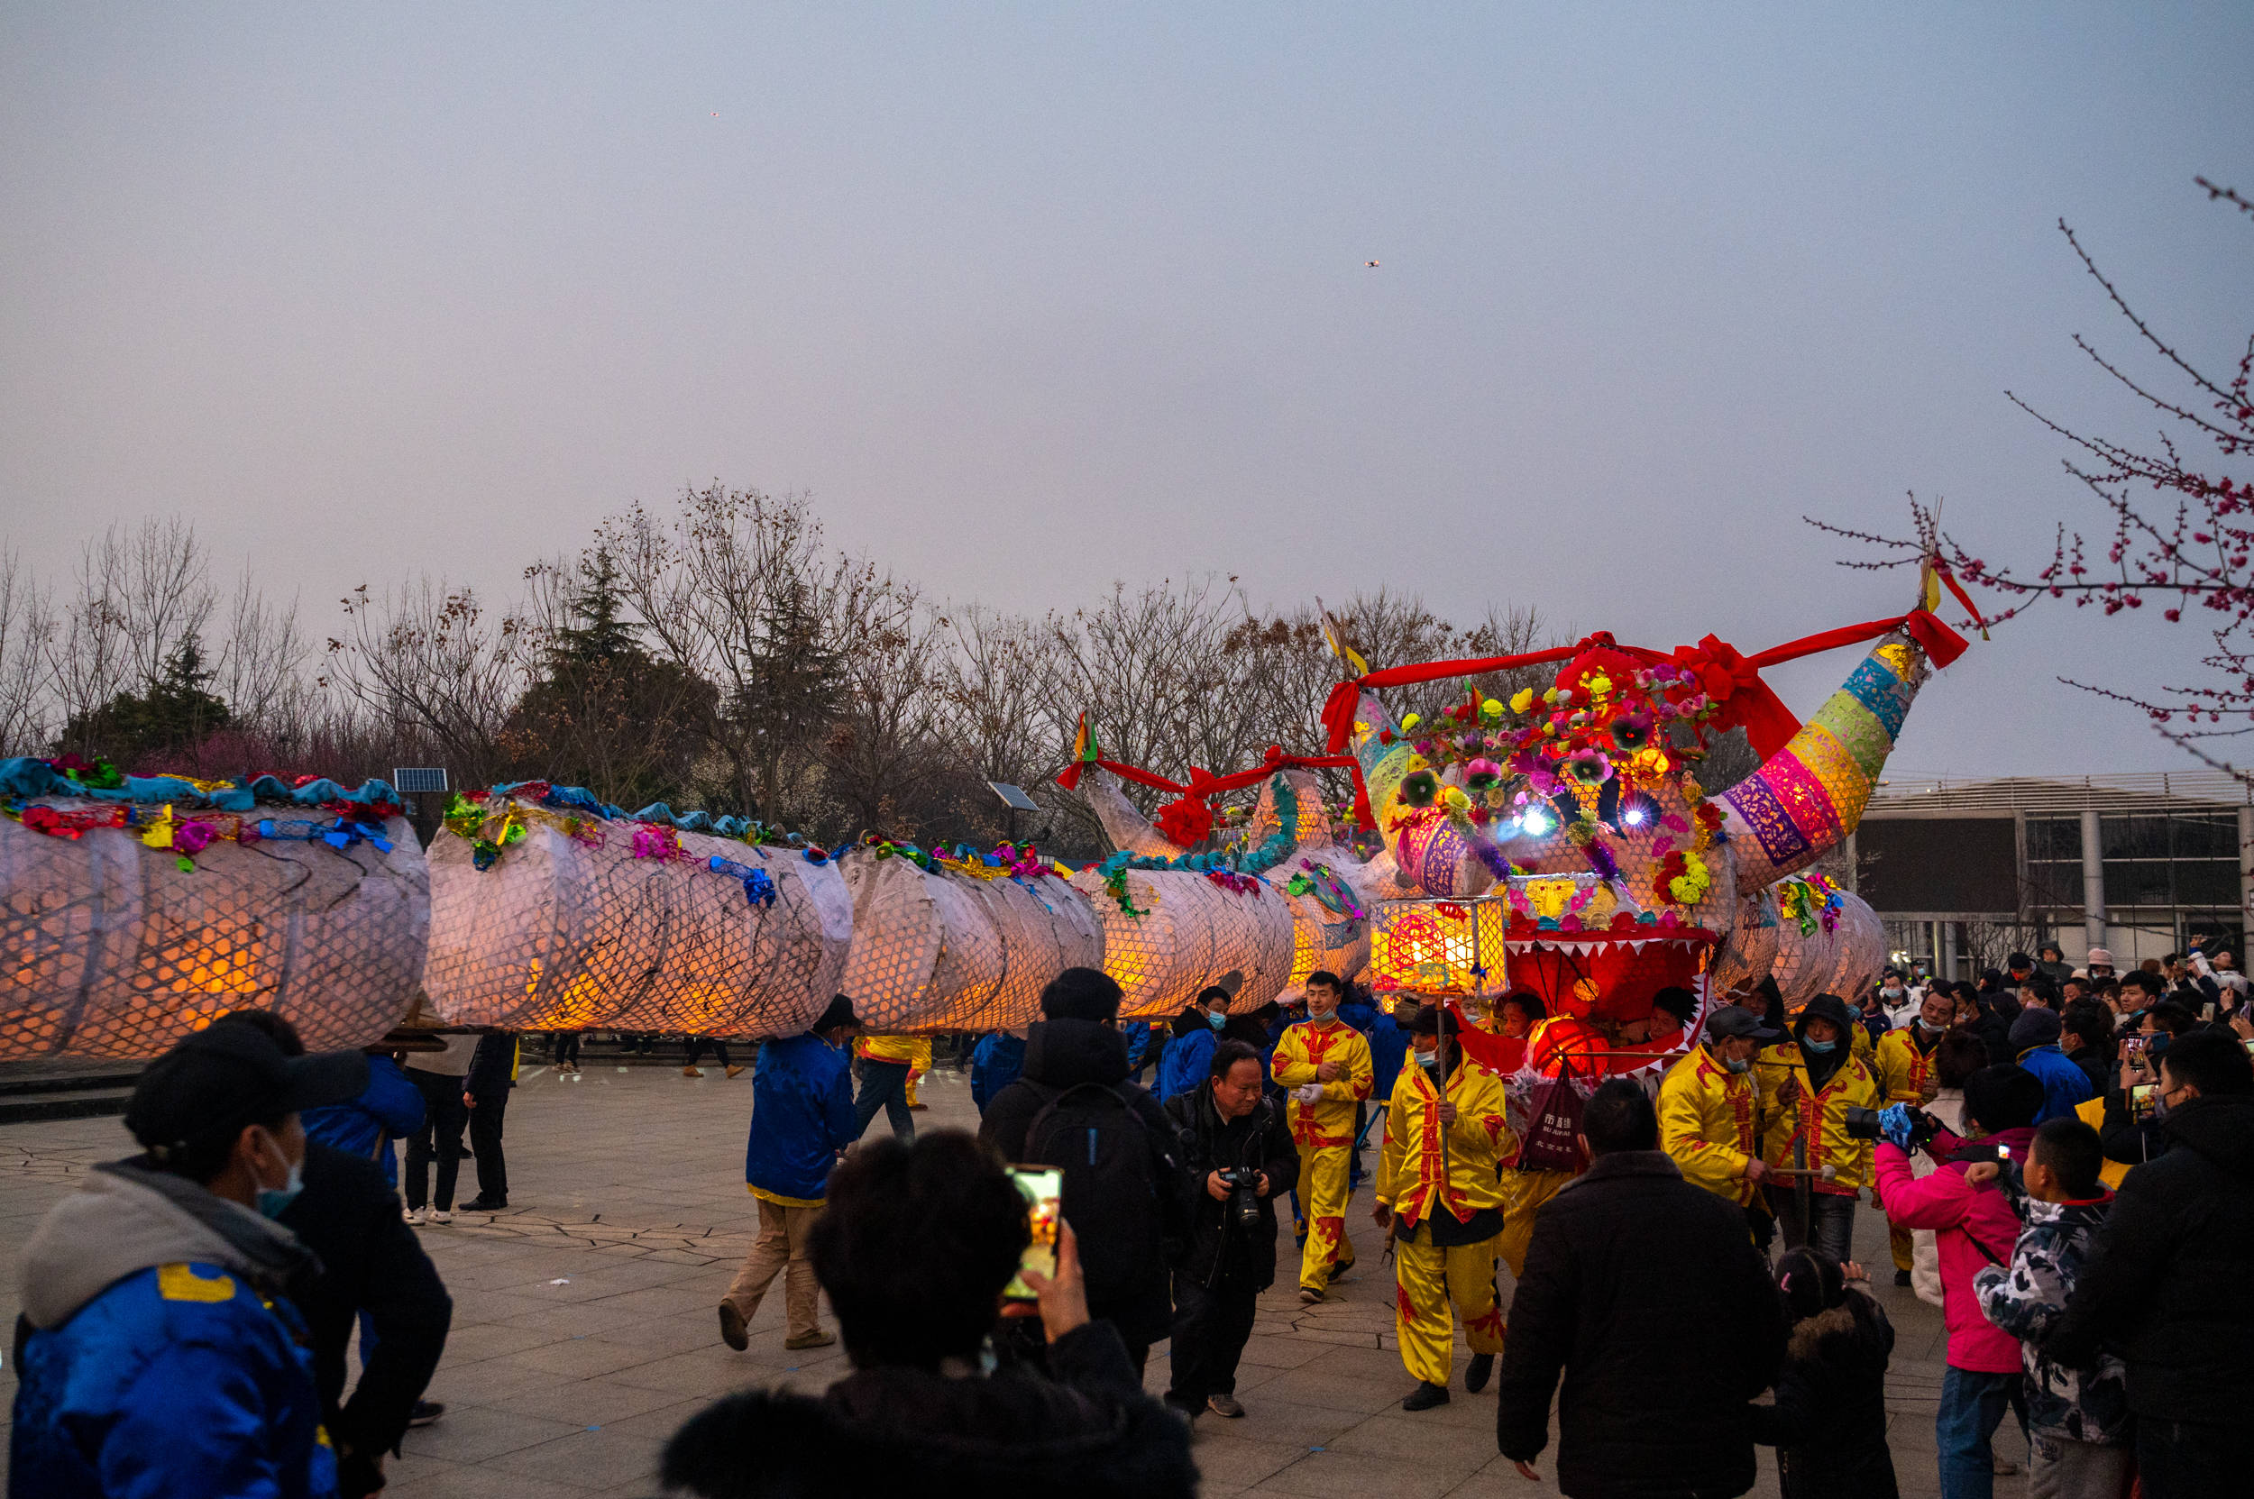
[[[1219,570],[1754,651],[1911,602],[1801,514],[2105,530],[2004,392],[2155,426],[2058,219],[2236,363],[2254,225],[2191,178],[2254,192],[2249,61],[2243,0],[9,2],[0,534],[61,582],[176,512],[329,631],[719,478],[935,597]],[[2053,678],[2202,645],[2038,611],[1893,775],[2189,766]]]

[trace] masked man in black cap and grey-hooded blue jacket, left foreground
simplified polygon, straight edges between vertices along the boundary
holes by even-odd
[[[25,1249],[11,1492],[336,1492],[284,1294],[318,1265],[275,1217],[302,1183],[298,1114],[365,1086],[361,1053],[286,1057],[237,1021],[149,1064],[124,1120],[144,1154],[97,1165]]]

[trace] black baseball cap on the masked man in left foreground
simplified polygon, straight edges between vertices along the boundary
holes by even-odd
[[[365,1089],[363,1053],[291,1057],[257,1026],[219,1019],[149,1064],[126,1102],[126,1129],[162,1154],[282,1114],[340,1105]]]

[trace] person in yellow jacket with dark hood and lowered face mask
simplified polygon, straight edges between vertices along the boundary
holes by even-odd
[[[1830,1165],[1835,1172],[1808,1181],[1805,1235],[1799,1183],[1769,1183],[1769,1210],[1785,1231],[1785,1249],[1812,1242],[1842,1262],[1855,1258],[1855,1197],[1871,1181],[1871,1143],[1846,1132],[1846,1111],[1880,1105],[1878,1080],[1848,1050],[1855,1030],[1846,1001],[1817,994],[1792,1023],[1792,1039],[1765,1048],[1754,1062],[1769,1170],[1801,1168],[1805,1154],[1801,1170]]]

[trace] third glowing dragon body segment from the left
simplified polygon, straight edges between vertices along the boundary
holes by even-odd
[[[870,1030],[996,1030],[1041,1017],[1041,990],[1100,967],[1102,926],[1064,879],[920,868],[904,854],[843,854],[854,942],[843,992]]]

